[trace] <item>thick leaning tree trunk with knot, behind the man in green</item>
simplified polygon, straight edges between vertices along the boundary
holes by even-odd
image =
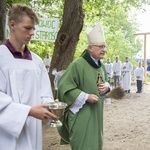
[[[55,41],[49,72],[54,97],[56,96],[56,91],[54,90],[52,70],[54,68],[57,71],[65,70],[73,60],[79,35],[83,28],[84,12],[82,4],[82,0],[65,0],[63,22]]]

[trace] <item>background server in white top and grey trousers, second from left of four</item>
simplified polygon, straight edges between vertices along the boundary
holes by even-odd
[[[119,60],[119,56],[115,57],[115,61],[113,62],[113,78],[114,78],[114,86],[120,86],[120,77],[121,77],[121,66],[122,63]]]

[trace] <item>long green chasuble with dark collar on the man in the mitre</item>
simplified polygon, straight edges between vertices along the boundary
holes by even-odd
[[[70,144],[72,150],[102,150],[104,96],[99,95],[97,77],[100,73],[104,82],[107,74],[102,62],[96,65],[86,50],[73,61],[63,74],[58,87],[57,98],[68,104],[58,128],[61,144]],[[86,102],[76,114],[69,108],[81,92],[95,94],[97,103]]]

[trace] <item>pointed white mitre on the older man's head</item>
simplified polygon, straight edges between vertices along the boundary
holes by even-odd
[[[86,34],[89,45],[102,45],[105,44],[105,36],[100,22],[94,28],[87,27]]]

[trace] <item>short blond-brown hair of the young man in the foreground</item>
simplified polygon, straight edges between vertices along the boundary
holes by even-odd
[[[8,11],[8,22],[14,20],[15,22],[21,22],[23,16],[28,16],[35,24],[39,23],[39,19],[32,8],[24,4],[13,4]]]

